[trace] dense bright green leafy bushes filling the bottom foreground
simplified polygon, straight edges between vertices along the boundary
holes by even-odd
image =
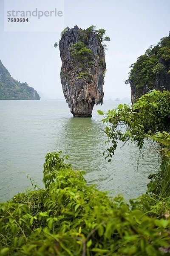
[[[45,189],[0,204],[0,255],[164,255],[170,201],[113,200],[87,186],[58,153],[44,164]],[[150,202],[150,203],[149,203]]]

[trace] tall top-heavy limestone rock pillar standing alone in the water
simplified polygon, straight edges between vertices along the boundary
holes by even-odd
[[[65,29],[59,41],[62,90],[74,116],[92,116],[103,102],[105,52],[93,30]]]

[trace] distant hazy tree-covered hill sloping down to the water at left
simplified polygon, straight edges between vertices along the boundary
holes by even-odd
[[[20,83],[12,78],[0,61],[0,99],[40,100],[40,96],[26,82]]]

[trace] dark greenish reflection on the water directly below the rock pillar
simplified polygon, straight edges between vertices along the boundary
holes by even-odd
[[[63,151],[77,169],[98,169],[99,154],[103,148],[101,123],[91,118],[73,117],[65,123],[61,134]],[[93,166],[93,167],[92,167]]]

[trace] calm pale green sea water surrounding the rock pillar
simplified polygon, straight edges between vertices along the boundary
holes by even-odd
[[[58,150],[70,155],[74,169],[86,171],[88,184],[127,199],[144,193],[148,174],[158,168],[148,145],[144,159],[130,143],[121,149],[119,144],[111,163],[102,156],[106,138],[97,110],[108,111],[119,103],[105,101],[94,107],[92,118],[74,118],[65,100],[0,101],[0,199],[24,191],[30,185],[27,175],[42,186],[45,155]]]

